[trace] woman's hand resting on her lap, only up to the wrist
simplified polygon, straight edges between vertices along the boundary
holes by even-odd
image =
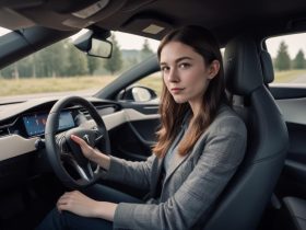
[[[68,210],[83,217],[98,217],[101,202],[94,200],[79,191],[64,193],[57,202],[59,211]]]

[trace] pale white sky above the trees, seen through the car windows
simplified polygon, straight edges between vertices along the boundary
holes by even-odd
[[[0,36],[8,32],[8,30],[0,27]],[[144,42],[144,38],[141,36],[125,34],[120,32],[115,32],[115,36],[121,49],[141,49]],[[156,51],[160,42],[154,39],[148,41],[152,50]],[[268,51],[273,58],[276,57],[278,49],[282,41],[284,41],[287,45],[289,55],[292,59],[296,56],[299,49],[302,49],[304,51],[304,55],[306,56],[306,33],[304,33],[267,39]]]

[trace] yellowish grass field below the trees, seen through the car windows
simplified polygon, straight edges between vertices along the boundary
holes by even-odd
[[[274,83],[287,83],[296,79],[301,74],[306,74],[306,70],[289,70],[275,71]],[[97,77],[70,77],[70,78],[37,78],[37,79],[1,79],[0,78],[0,96],[51,93],[51,92],[69,92],[92,90],[97,91],[113,81],[116,77],[97,76]],[[162,91],[161,73],[149,76],[140,80],[137,84],[141,84],[154,90],[157,95]]]

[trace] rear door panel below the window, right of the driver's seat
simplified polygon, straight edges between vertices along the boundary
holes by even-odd
[[[306,88],[271,87],[286,120],[290,148],[276,186],[279,196],[306,198]]]

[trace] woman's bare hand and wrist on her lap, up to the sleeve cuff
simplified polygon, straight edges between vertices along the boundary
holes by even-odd
[[[64,193],[57,202],[59,211],[67,210],[82,217],[103,218],[113,221],[117,204],[94,200],[79,191]]]

